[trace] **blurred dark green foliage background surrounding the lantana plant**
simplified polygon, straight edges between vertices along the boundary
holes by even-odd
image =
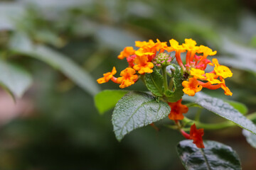
[[[112,111],[100,115],[93,101],[100,90],[118,89],[96,79],[126,67],[119,52],[156,38],[193,38],[217,50],[233,71],[226,82],[233,96],[206,93],[256,111],[255,0],[0,1],[1,60],[31,77],[16,104],[0,91],[0,169],[183,169],[176,154],[183,137],[161,125],[169,120],[160,121],[159,131],[140,128],[117,142]],[[146,90],[141,82],[127,89]],[[203,113],[203,122],[222,120]],[[230,145],[243,169],[255,169],[256,149],[240,128],[206,131],[204,139]]]

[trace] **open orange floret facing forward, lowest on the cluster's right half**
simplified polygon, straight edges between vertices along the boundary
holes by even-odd
[[[188,96],[195,96],[198,91],[201,91],[203,86],[201,86],[195,78],[189,78],[188,81],[183,81],[182,86],[183,91]]]

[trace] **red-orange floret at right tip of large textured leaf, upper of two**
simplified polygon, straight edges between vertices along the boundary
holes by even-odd
[[[182,120],[184,116],[183,113],[188,112],[188,107],[186,105],[181,104],[182,98],[179,101],[174,103],[168,103],[171,107],[171,113],[169,114],[169,119],[171,120]]]

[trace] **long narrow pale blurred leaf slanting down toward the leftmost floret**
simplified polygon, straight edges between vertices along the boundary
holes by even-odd
[[[56,52],[44,45],[33,45],[31,40],[22,33],[14,34],[10,46],[11,49],[18,54],[34,57],[59,69],[65,76],[72,79],[78,86],[92,96],[100,91],[95,79],[93,79],[89,73],[60,52]]]

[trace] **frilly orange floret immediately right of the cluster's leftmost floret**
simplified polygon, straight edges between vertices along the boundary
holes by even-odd
[[[138,79],[138,75],[136,74],[135,70],[129,67],[124,69],[120,73],[120,76],[122,77],[117,78],[117,83],[121,84],[119,86],[121,89],[124,89],[127,86],[131,86]]]

